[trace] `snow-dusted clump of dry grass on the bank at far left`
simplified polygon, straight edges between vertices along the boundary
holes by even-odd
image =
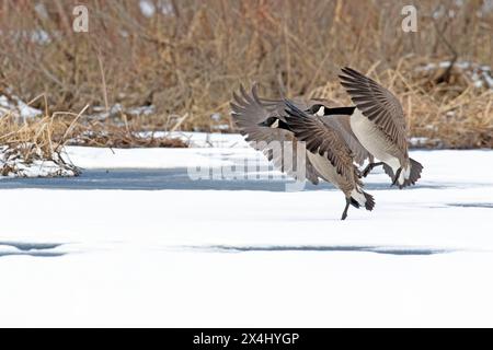
[[[105,148],[186,148],[188,144],[168,137],[154,136],[153,131],[141,135],[141,124],[91,121],[83,118],[84,107],[79,114],[54,113],[39,118],[21,120],[8,114],[0,118],[0,175],[21,174],[20,164],[53,162],[60,168],[57,174],[70,171],[79,175],[80,170],[62,156],[65,145],[90,145]]]

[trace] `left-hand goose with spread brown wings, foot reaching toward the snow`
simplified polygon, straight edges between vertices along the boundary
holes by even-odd
[[[372,210],[374,198],[363,191],[358,171],[353,164],[354,161],[363,164],[370,154],[351,130],[348,115],[332,114],[326,117],[308,114],[308,110],[320,109],[320,101],[305,104],[260,98],[256,85],[253,86],[251,95],[246,94],[243,86],[240,86],[240,93],[241,96],[233,93],[233,120],[240,132],[246,136],[245,140],[256,141],[252,145],[263,151],[275,167],[298,180],[305,179],[293,166],[286,166],[286,161],[291,159],[274,158],[265,143],[257,143],[259,141],[290,141],[295,159],[296,152],[305,152],[306,162],[297,164],[297,168],[306,167],[306,178],[318,184],[320,177],[344,192],[346,206],[342,220],[346,219],[349,205],[356,208],[365,206],[367,210]],[[301,148],[297,149],[296,145]]]

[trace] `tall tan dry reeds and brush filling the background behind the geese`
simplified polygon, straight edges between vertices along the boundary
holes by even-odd
[[[77,1],[90,11],[83,34],[71,31],[72,1],[36,1],[46,16],[32,1],[3,0],[0,92],[10,86],[26,101],[45,93],[49,110],[152,104],[156,115],[133,121],[135,130],[169,126],[171,115],[183,116],[180,129],[214,130],[231,124],[228,103],[240,82],[260,82],[271,96],[324,94],[347,103],[336,75],[351,66],[399,95],[412,136],[429,138],[431,145],[493,147],[490,91],[414,71],[455,54],[493,66],[493,13],[478,16],[482,0],[460,7],[439,0],[151,2],[167,4],[169,13],[146,18],[133,0]],[[406,34],[400,13],[413,2],[419,32]],[[51,40],[33,40],[36,30]],[[105,127],[105,138],[128,142],[125,129]],[[105,138],[91,142],[112,143]]]

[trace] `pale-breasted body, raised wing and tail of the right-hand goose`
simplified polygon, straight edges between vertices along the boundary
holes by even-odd
[[[378,165],[403,188],[421,177],[423,165],[409,158],[406,124],[399,100],[374,80],[351,68],[339,75],[356,105],[351,113],[351,128],[359,142],[380,162],[370,164],[363,176]]]

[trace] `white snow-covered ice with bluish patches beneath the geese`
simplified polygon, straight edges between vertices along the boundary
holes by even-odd
[[[342,222],[328,185],[200,187],[187,166],[256,153],[238,136],[193,138],[69,148],[85,171],[65,182],[83,189],[0,179],[0,326],[493,326],[492,151],[414,151],[419,186],[372,174],[375,210]],[[118,168],[168,175],[105,186]]]

